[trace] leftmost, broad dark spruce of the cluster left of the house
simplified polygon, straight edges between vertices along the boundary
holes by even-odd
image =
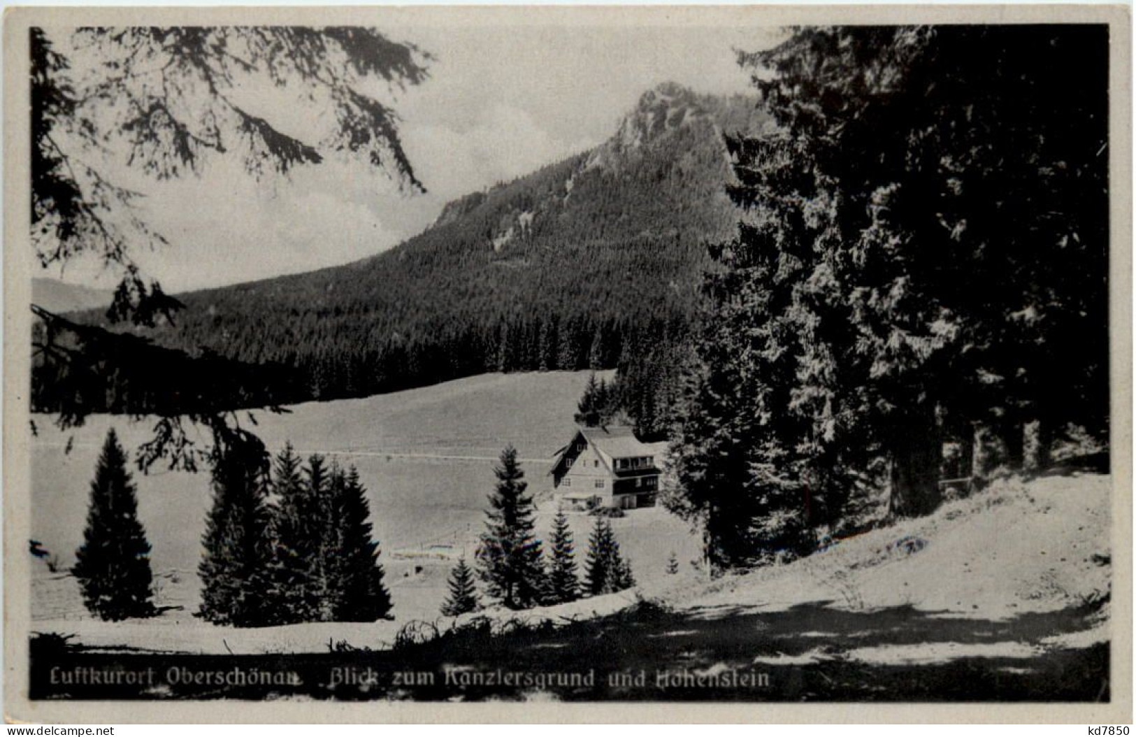
[[[259,627],[275,621],[266,476],[264,447],[250,441],[223,449],[214,466],[214,504],[198,572],[199,615],[215,625]]]

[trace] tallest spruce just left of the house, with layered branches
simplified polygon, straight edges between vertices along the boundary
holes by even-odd
[[[486,529],[477,548],[479,572],[490,596],[509,609],[527,609],[541,601],[544,570],[533,497],[525,493],[528,484],[517,449],[507,446],[493,472],[498,484],[488,497]]]

